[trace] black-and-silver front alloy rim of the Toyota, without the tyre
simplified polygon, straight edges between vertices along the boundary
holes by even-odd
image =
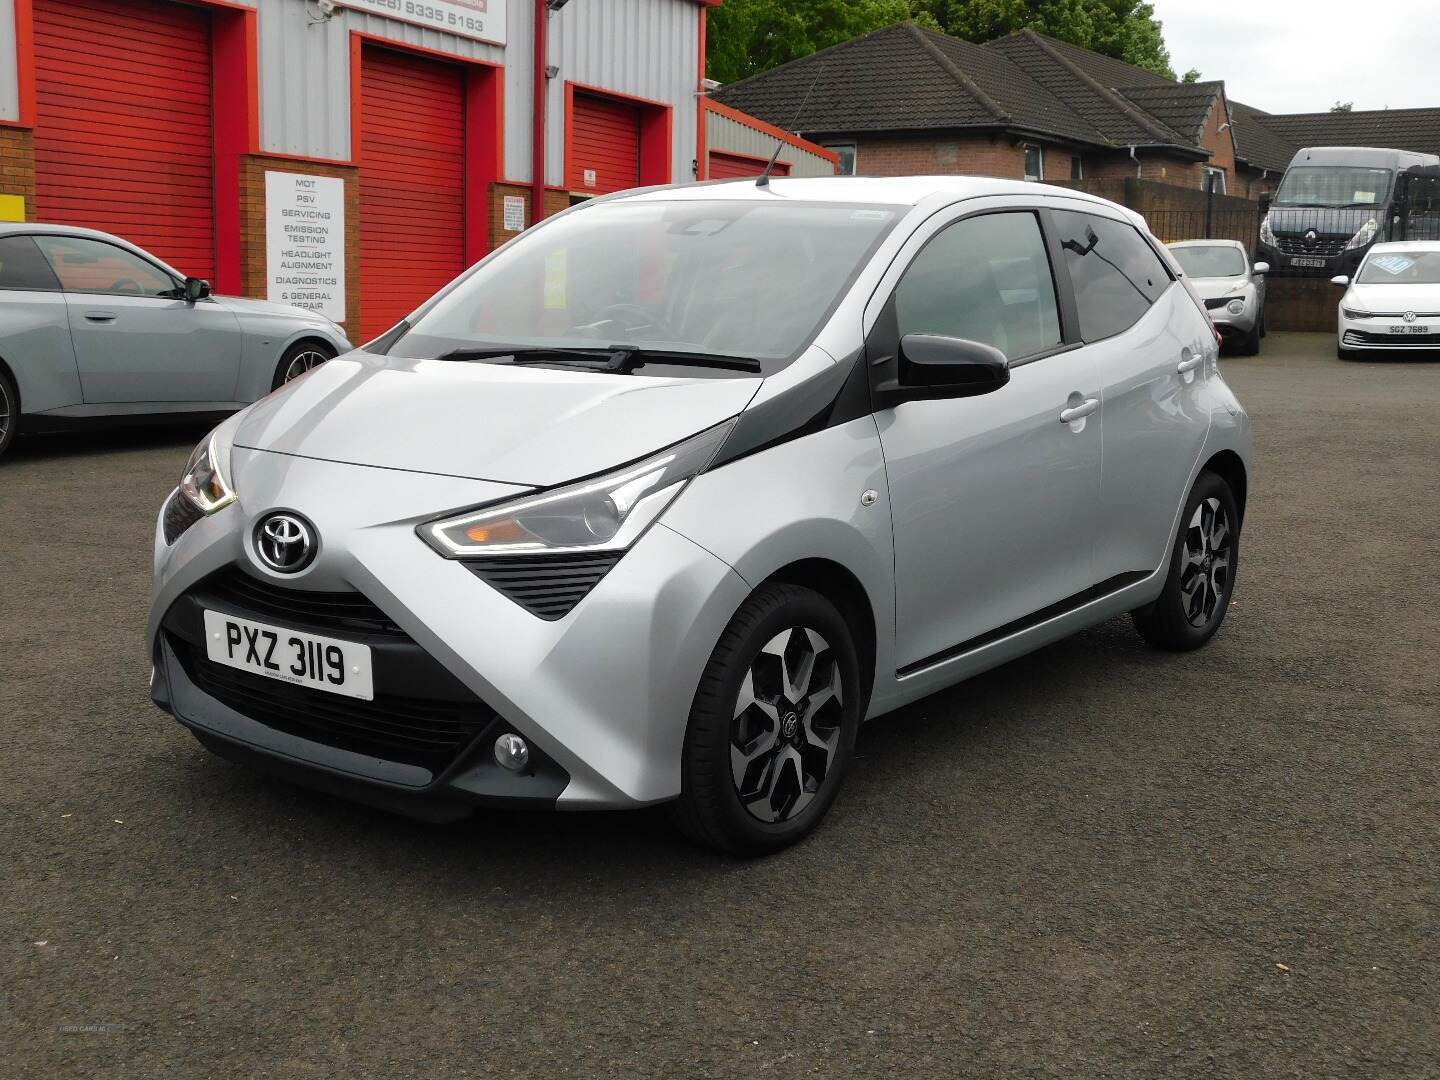
[[[759,821],[789,821],[825,783],[840,749],[844,688],[829,642],[806,626],[770,638],[740,684],[730,772]]]

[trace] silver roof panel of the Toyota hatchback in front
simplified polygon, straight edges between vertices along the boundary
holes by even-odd
[[[1086,192],[1053,184],[1037,184],[1028,180],[999,180],[985,176],[816,176],[816,177],[773,177],[768,187],[759,187],[755,179],[708,180],[704,183],[670,184],[621,192],[611,200],[763,200],[795,199],[806,203],[876,203],[890,206],[919,206],[936,196],[949,196],[952,202],[979,199],[992,194],[1011,196],[1058,196],[1083,203],[1092,203],[1109,210],[1120,210],[1126,217],[1136,217],[1119,203]],[[599,200],[596,200],[599,202]]]

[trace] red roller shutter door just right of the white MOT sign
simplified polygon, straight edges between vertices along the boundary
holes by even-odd
[[[465,269],[465,72],[366,48],[360,333],[382,334]]]

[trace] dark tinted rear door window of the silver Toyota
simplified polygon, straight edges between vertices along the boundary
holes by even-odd
[[[1169,288],[1169,271],[1133,226],[1074,210],[1056,210],[1054,222],[1086,341],[1129,330]]]

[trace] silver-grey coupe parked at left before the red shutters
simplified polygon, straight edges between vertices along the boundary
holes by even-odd
[[[0,454],[22,425],[233,412],[348,350],[323,315],[212,297],[118,236],[0,223]]]

